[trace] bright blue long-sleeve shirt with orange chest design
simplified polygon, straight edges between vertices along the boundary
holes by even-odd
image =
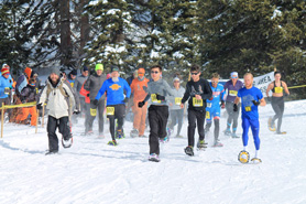
[[[124,90],[127,97],[131,96],[131,88],[125,79],[118,77],[118,82],[113,82],[112,78],[105,80],[102,87],[99,89],[96,99],[99,100],[107,92],[107,106],[125,104]]]

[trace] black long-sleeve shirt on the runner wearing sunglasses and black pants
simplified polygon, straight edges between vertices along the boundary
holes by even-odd
[[[201,99],[196,99],[195,95],[200,95]],[[200,78],[198,82],[189,80],[186,84],[186,92],[182,99],[185,104],[188,99],[188,108],[194,110],[205,110],[206,100],[211,98],[212,92],[208,80]]]

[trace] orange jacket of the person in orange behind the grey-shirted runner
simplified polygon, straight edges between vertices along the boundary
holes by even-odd
[[[147,92],[147,78],[143,78],[140,80],[139,78],[134,78],[131,84],[131,90],[134,97],[134,103],[144,100]]]

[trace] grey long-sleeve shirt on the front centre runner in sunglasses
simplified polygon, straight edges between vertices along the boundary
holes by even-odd
[[[157,100],[156,94],[160,96],[164,96],[165,100]],[[174,90],[170,87],[168,83],[163,78],[159,80],[149,82],[147,83],[147,95],[144,98],[144,101],[147,101],[151,98],[151,105],[159,105],[159,106],[167,106],[167,100],[170,96],[174,96]]]

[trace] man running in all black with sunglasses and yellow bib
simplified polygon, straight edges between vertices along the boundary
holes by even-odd
[[[205,143],[205,115],[206,100],[211,98],[212,92],[209,83],[200,78],[200,68],[198,65],[190,67],[192,80],[186,85],[186,92],[182,99],[181,108],[184,107],[185,101],[188,100],[188,146],[185,148],[185,153],[194,155],[195,146],[195,129],[198,127],[198,149],[206,148]]]

